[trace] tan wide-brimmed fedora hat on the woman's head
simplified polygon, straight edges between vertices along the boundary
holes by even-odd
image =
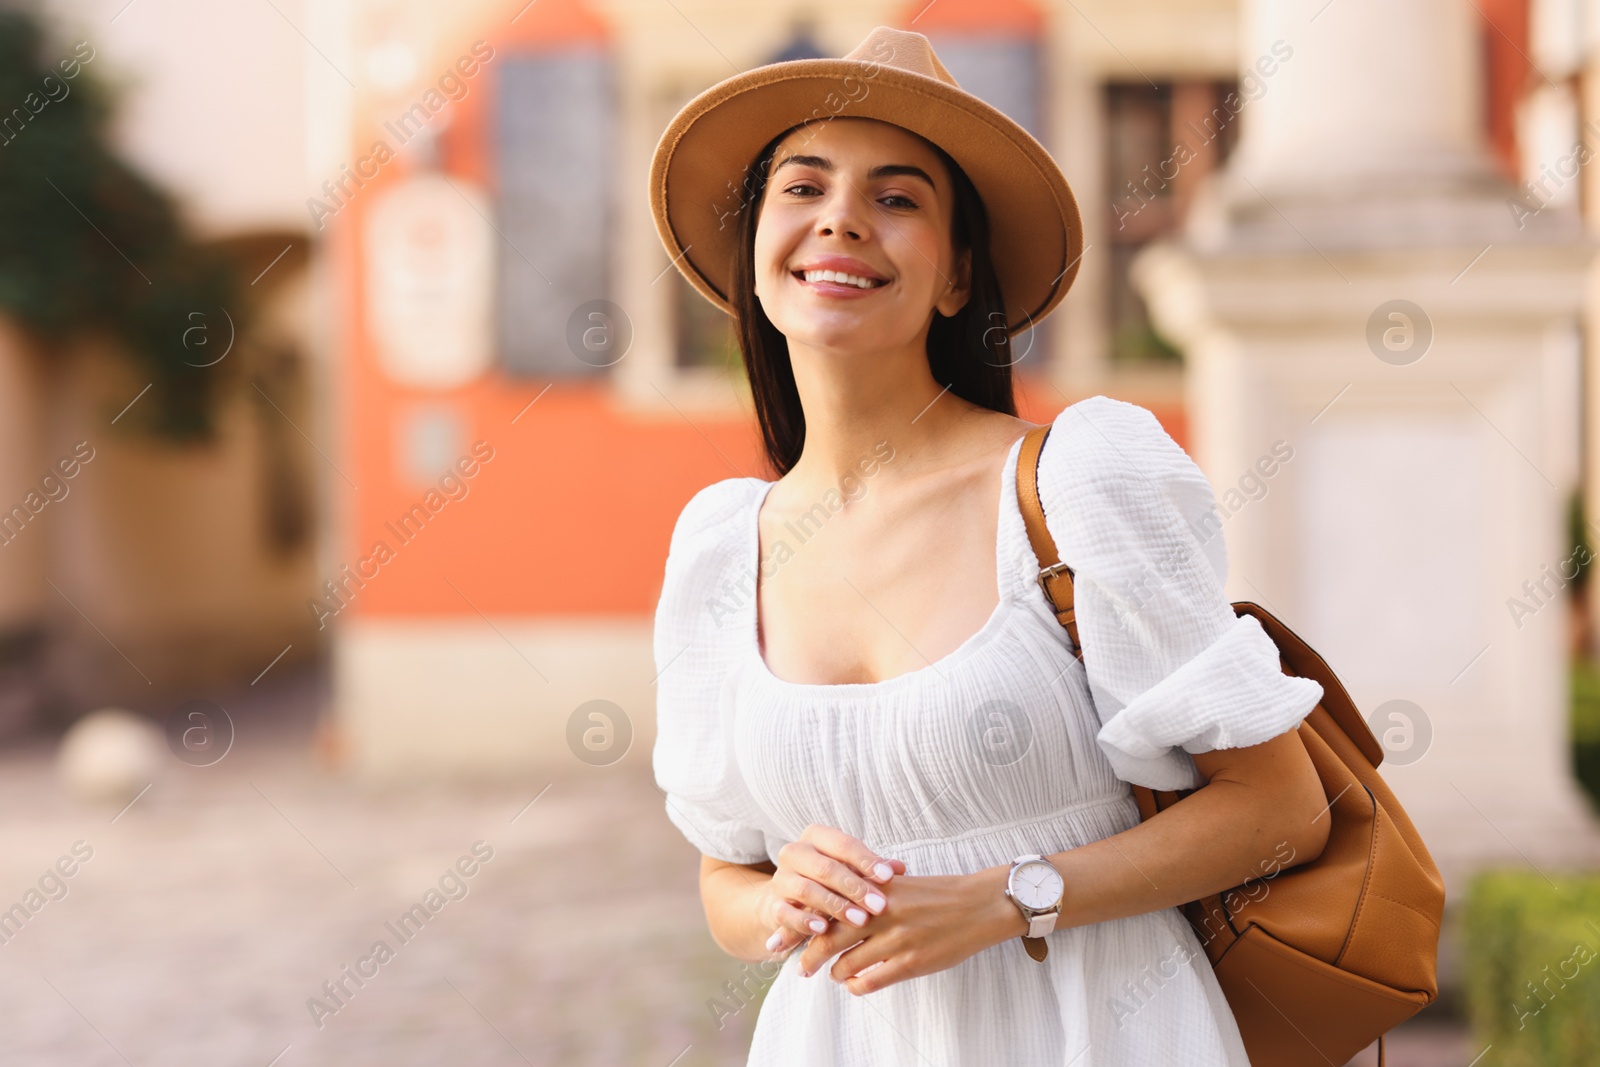
[[[962,90],[922,34],[880,26],[843,59],[773,62],[710,86],[674,117],[650,165],[650,210],[678,270],[730,315],[746,168],[813,118],[878,118],[950,154],[984,200],[1014,334],[1056,307],[1078,272],[1083,226],[1050,152]]]

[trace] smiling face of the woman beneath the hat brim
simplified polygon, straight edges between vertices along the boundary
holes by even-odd
[[[755,226],[755,296],[795,346],[922,347],[934,309],[968,298],[954,189],[917,134],[874,118],[802,126],[778,144]]]

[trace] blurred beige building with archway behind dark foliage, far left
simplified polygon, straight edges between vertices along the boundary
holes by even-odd
[[[243,307],[195,307],[182,322],[194,365],[234,376],[216,440],[190,446],[138,429],[154,382],[125,352],[40,346],[0,317],[3,733],[110,702],[158,713],[323,651],[304,625],[323,512],[304,42],[272,6],[118,6],[40,5],[54,50],[43,59],[90,56],[85,77],[115,86],[117,154],[179,198],[195,240],[254,278],[254,326],[234,330]],[[296,19],[299,8],[283,5]],[[37,141],[51,118],[6,138]],[[0,166],[16,150],[0,147]],[[82,226],[85,242],[106,238],[106,219]],[[90,459],[59,478],[74,456]]]

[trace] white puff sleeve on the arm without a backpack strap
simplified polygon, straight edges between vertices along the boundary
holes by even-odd
[[[752,485],[754,483],[754,485]],[[651,765],[667,817],[714,859],[768,859],[760,814],[733,750],[733,686],[739,648],[739,582],[746,581],[741,517],[755,478],[726,478],[683,506],[667,549],[656,605],[656,744]],[[754,579],[754,573],[749,576]]]

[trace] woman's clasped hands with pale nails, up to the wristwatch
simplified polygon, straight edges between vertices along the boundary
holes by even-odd
[[[858,997],[933,974],[1026,931],[1005,897],[1006,873],[907,875],[902,861],[813,824],[779,849],[765,886],[766,950],[784,955],[803,945],[802,977],[837,955],[829,976]]]

